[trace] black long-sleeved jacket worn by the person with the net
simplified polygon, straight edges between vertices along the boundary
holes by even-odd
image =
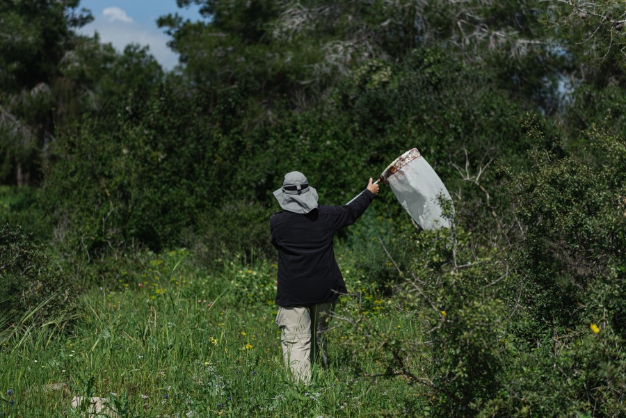
[[[309,214],[273,214],[270,227],[272,244],[278,249],[278,305],[332,302],[339,293],[346,293],[332,237],[337,230],[355,223],[373,199],[374,194],[366,190],[346,206],[321,204]]]

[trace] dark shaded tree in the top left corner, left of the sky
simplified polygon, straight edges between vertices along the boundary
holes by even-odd
[[[24,184],[40,173],[55,125],[78,111],[81,89],[63,74],[77,46],[73,30],[92,19],[79,0],[0,3],[0,181]],[[17,145],[16,145],[17,144]],[[12,170],[12,169],[13,170]]]

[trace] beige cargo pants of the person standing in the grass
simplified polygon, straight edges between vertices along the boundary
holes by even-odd
[[[282,358],[291,376],[303,383],[311,382],[311,362],[328,366],[326,338],[334,302],[310,306],[278,307],[276,325],[280,327]]]

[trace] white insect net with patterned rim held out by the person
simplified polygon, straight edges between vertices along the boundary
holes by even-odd
[[[451,216],[444,216],[444,207],[454,214],[450,194],[417,148],[399,156],[380,180],[389,183],[402,207],[424,230],[451,227]]]

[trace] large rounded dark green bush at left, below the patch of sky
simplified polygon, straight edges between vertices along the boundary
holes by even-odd
[[[87,254],[126,239],[153,248],[166,237],[174,241],[182,227],[195,225],[218,185],[215,140],[191,122],[187,103],[167,92],[147,104],[141,95],[124,103],[106,120],[86,119],[54,147],[59,158],[45,184],[47,202],[56,209],[59,234],[69,234],[70,248]]]

